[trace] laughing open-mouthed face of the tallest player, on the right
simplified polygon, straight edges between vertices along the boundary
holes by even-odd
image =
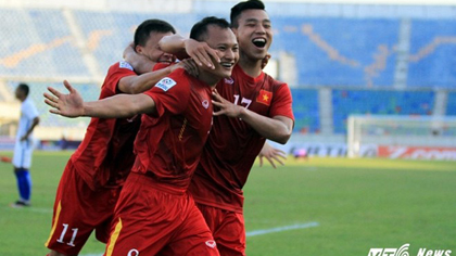
[[[263,60],[273,42],[269,16],[263,10],[245,10],[238,17],[233,31],[242,54],[249,59]]]

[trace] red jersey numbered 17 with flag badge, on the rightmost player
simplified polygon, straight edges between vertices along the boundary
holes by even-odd
[[[265,73],[253,78],[237,65],[231,78],[218,82],[217,91],[226,100],[259,115],[294,119],[288,85]],[[242,119],[214,117],[213,130],[189,188],[194,200],[242,213],[242,188],[264,143],[265,138]]]

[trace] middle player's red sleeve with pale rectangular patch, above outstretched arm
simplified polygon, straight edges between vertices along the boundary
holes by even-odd
[[[165,112],[177,115],[187,108],[190,97],[190,84],[186,77],[182,71],[176,71],[144,92],[155,102],[156,111],[151,116],[160,117]]]

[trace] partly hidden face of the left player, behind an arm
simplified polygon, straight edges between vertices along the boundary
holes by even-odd
[[[170,35],[173,35],[173,33],[170,31],[169,33],[151,31],[149,39],[145,42],[145,46],[143,47],[137,46],[136,51],[139,54],[142,54],[149,57],[149,60],[151,60],[152,62],[172,63],[175,61],[174,55],[162,51],[162,49],[160,49],[159,47],[160,39],[162,39],[164,36],[170,36]]]

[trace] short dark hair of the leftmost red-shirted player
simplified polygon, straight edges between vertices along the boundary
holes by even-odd
[[[145,42],[149,39],[151,31],[155,33],[173,33],[176,34],[174,27],[162,20],[152,18],[142,22],[135,31],[135,47],[136,46],[145,46]]]

